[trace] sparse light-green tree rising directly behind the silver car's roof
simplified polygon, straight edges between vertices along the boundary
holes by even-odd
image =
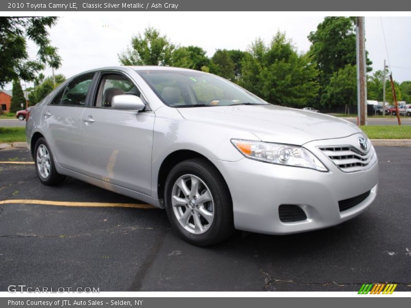
[[[171,65],[175,46],[152,27],[132,37],[131,46],[119,54],[122,65]]]

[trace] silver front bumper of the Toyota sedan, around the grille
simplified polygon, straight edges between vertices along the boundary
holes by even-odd
[[[366,170],[343,172],[322,155],[319,145],[352,144],[358,136],[346,140],[311,142],[311,150],[328,172],[275,165],[251,159],[236,162],[213,160],[225,178],[233,200],[236,229],[265,234],[292,234],[340,224],[362,213],[376,198],[378,162]],[[339,201],[370,191],[359,204],[340,211]],[[302,208],[306,220],[282,222],[278,207],[293,204]]]

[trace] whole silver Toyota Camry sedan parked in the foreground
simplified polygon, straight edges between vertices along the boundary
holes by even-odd
[[[279,235],[337,225],[377,194],[376,152],[356,125],[269,104],[209,73],[86,71],[27,118],[43,184],[69,176],[165,208],[196,245],[234,229]]]

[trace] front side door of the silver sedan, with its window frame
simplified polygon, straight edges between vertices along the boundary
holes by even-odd
[[[119,72],[103,72],[82,119],[86,175],[151,195],[155,113],[111,108],[115,95],[142,97],[137,85]],[[144,101],[144,99],[143,99]]]

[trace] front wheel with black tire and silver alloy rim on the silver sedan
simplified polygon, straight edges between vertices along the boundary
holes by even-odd
[[[167,176],[164,200],[173,229],[186,242],[209,246],[234,232],[229,189],[206,159],[177,164]]]

